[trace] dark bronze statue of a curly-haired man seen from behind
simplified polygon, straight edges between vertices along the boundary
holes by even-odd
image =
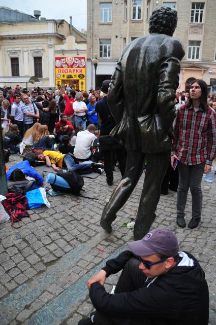
[[[107,102],[116,121],[111,135],[128,151],[126,173],[106,204],[101,226],[111,232],[116,212],[133,192],[146,160],[147,169],[134,226],[134,239],[148,232],[156,218],[161,183],[170,161],[175,91],[183,45],[173,38],[177,12],[152,12],[147,36],[128,44],[111,78]]]

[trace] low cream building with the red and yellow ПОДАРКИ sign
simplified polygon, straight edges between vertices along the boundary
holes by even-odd
[[[0,7],[0,79],[13,76],[18,84],[25,86],[19,83],[20,77],[35,76],[40,80],[37,85],[42,88],[55,87],[58,81],[62,85],[75,83],[77,87],[81,82],[84,84],[85,73],[75,74],[76,77],[56,74],[55,68],[59,57],[63,64],[66,58],[70,63],[82,60],[83,64],[86,60],[85,36],[65,20],[40,17],[40,11],[35,11],[34,15]],[[67,66],[71,67],[74,68]],[[78,75],[82,75],[80,80]]]

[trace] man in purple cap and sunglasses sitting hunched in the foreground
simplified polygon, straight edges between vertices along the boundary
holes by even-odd
[[[78,325],[208,325],[208,286],[198,261],[179,251],[169,229],[155,229],[123,251],[88,282],[96,308]],[[114,295],[110,274],[121,272]]]

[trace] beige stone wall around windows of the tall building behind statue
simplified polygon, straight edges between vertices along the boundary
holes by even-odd
[[[128,0],[128,20],[124,20],[124,0],[87,0],[87,58],[91,58],[91,1],[94,3],[94,42],[92,52],[97,52],[99,55],[99,39],[111,38],[112,39],[112,57],[117,59],[120,56],[124,39],[126,44],[131,42],[131,37],[140,37],[148,33],[148,22],[146,21],[146,4],[147,0],[143,0],[142,19],[140,21],[131,20],[131,3]],[[100,2],[112,2],[112,23],[99,24],[99,4]],[[117,2],[117,4],[115,4]],[[174,33],[174,37],[179,39],[185,48],[186,55],[184,56],[183,63],[197,62],[215,69],[215,30],[216,30],[216,0],[155,0],[150,2],[150,12],[156,8],[160,8],[163,3],[176,2],[178,12],[178,24]],[[191,6],[192,3],[204,3],[204,19],[202,24],[191,24]],[[117,37],[116,37],[117,36]],[[191,41],[201,41],[200,59],[188,59],[188,44]],[[203,76],[203,79],[209,83],[210,77],[208,71],[204,74],[202,69],[194,72],[194,70],[187,70],[188,78],[195,76]],[[214,78],[213,75],[211,78]],[[180,81],[181,82],[181,81]],[[182,87],[184,87],[184,80],[182,80]],[[181,89],[182,90],[182,89]]]

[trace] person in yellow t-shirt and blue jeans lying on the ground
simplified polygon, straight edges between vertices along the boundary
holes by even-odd
[[[37,152],[36,157],[46,161],[48,167],[52,167],[55,171],[67,167],[68,170],[76,171],[78,174],[88,174],[92,171],[101,174],[103,164],[76,164],[71,155],[63,155],[57,151],[45,150],[44,152]]]

